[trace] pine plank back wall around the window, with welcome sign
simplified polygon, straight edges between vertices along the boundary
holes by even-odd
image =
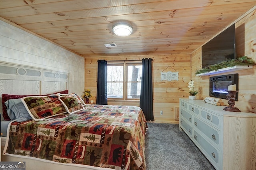
[[[86,57],[85,60],[85,88],[92,90],[91,100],[96,101],[97,87],[97,61],[104,59],[113,60],[141,60],[151,58],[153,72],[153,109],[155,122],[178,123],[174,120],[179,98],[188,98],[188,82],[190,80],[190,55],[165,54],[165,55],[118,55]],[[179,72],[179,80],[162,80],[161,72]],[[139,106],[139,102],[111,101],[112,105]],[[160,115],[160,111],[163,115]]]

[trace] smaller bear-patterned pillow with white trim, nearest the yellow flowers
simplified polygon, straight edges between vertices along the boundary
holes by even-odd
[[[84,106],[81,104],[75,94],[70,94],[69,96],[59,96],[59,99],[70,114],[84,109]]]

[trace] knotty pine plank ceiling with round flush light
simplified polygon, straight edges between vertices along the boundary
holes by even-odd
[[[0,0],[0,17],[84,57],[190,54],[255,5],[255,0]],[[133,33],[115,35],[118,21],[130,23]],[[117,47],[105,47],[108,43]]]

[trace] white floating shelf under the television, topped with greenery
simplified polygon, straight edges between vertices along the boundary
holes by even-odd
[[[208,76],[208,75],[213,75],[213,74],[220,74],[220,73],[226,73],[226,72],[233,72],[233,71],[239,71],[239,70],[246,70],[250,69],[252,66],[232,66],[232,67],[227,67],[227,68],[221,68],[218,70],[213,70],[209,72],[204,72],[200,74],[196,74],[196,76]]]

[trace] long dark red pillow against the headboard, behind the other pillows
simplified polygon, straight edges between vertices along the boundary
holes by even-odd
[[[57,94],[57,93],[61,93],[61,94],[68,94],[68,90],[64,90],[64,91],[61,91],[61,92],[56,92],[54,94]],[[27,97],[27,96],[48,96],[50,94],[45,94],[45,95],[12,95],[12,94],[2,94],[2,107],[3,107],[3,117],[4,117],[4,120],[11,120],[10,117],[8,116],[7,114],[7,107],[6,105],[4,104],[7,100],[10,100],[10,99],[20,99],[20,98],[23,98],[23,97]]]

